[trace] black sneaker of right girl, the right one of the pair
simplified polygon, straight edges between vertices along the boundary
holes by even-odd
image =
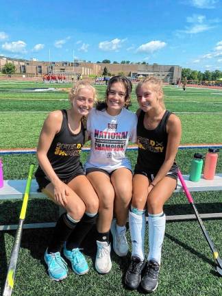
[[[160,264],[154,260],[147,262],[145,273],[141,280],[141,286],[147,293],[152,293],[158,287],[158,275],[160,271]]]

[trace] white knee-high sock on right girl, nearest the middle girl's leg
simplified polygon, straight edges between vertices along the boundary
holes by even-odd
[[[144,260],[144,240],[146,229],[145,210],[137,210],[134,208],[132,210],[134,210],[134,212],[130,211],[129,214],[132,256],[137,256],[141,260]]]

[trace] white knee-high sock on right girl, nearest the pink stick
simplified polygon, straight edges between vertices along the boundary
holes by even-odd
[[[166,215],[148,214],[149,223],[149,254],[147,260],[156,260],[160,264],[161,249],[164,240]]]

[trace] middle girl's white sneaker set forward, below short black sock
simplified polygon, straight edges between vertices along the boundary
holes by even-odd
[[[112,268],[110,259],[111,247],[107,242],[97,240],[97,257],[95,260],[95,269],[98,273],[108,273]]]

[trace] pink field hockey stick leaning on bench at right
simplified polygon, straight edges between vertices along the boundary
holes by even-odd
[[[196,208],[196,206],[194,204],[193,197],[190,195],[190,192],[189,192],[189,190],[188,190],[188,188],[186,186],[186,183],[184,181],[184,178],[183,178],[182,173],[180,172],[180,170],[178,170],[178,177],[179,177],[180,182],[181,182],[181,184],[182,184],[182,186],[184,188],[184,192],[186,194],[186,197],[187,197],[190,205],[193,207],[193,210],[195,211],[195,216],[197,217],[197,220],[199,222],[201,230],[204,233],[204,236],[205,236],[205,238],[206,238],[206,240],[208,242],[208,245],[210,246],[210,249],[211,249],[213,257],[214,257],[214,260],[217,263],[217,272],[219,273],[219,275],[222,276],[222,260],[219,257],[217,249],[214,247],[214,243],[212,242],[212,240],[210,238],[210,235],[208,234],[208,231],[206,230],[201,217],[199,216],[199,212],[197,211],[197,208]]]

